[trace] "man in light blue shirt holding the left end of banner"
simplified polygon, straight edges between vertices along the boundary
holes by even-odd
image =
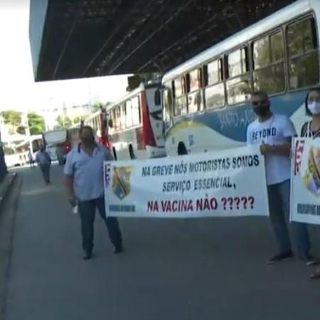
[[[78,203],[82,248],[84,259],[88,260],[92,257],[96,208],[105,220],[114,253],[122,252],[122,235],[117,218],[105,215],[103,161],[112,160],[112,155],[104,146],[96,144],[91,127],[81,127],[80,141],[78,147],[68,154],[64,172],[69,201],[73,206]]]

